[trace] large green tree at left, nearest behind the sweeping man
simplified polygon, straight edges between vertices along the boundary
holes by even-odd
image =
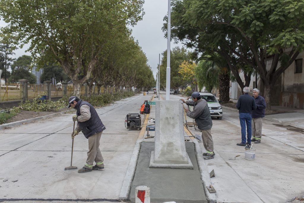
[[[142,5],[143,0],[3,0],[0,15],[8,23],[4,32],[15,33],[22,44],[31,41],[39,67],[58,61],[79,96],[108,41],[142,19]]]

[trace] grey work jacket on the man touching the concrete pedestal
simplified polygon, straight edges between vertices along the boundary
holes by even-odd
[[[196,103],[193,100],[186,101],[186,104],[193,106],[193,111],[188,111],[187,116],[194,118],[197,127],[200,130],[209,130],[212,128],[210,110],[206,100],[199,99]]]

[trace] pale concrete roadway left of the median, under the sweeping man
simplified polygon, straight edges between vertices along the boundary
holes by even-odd
[[[138,113],[147,96],[136,95],[97,109],[106,126],[101,138],[105,170],[64,170],[71,161],[73,114],[0,132],[0,201],[3,199],[117,200],[140,131],[128,131],[126,114]],[[76,111],[75,111],[76,112]],[[88,141],[74,138],[73,166],[85,165]]]

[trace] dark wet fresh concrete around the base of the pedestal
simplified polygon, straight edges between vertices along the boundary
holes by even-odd
[[[149,168],[153,142],[142,142],[130,191],[130,200],[135,201],[135,187],[147,185],[151,191],[151,202],[197,202],[207,203],[193,143],[186,143],[187,153],[193,169]]]

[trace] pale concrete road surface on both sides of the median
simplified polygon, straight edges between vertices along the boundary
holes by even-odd
[[[124,128],[127,113],[137,113],[143,100],[153,94],[137,95],[97,110],[107,130],[101,139],[105,170],[77,173],[70,166],[73,114],[5,129],[0,132],[0,201],[34,202],[30,199],[116,201],[128,170],[140,131]],[[165,92],[161,92],[161,99]],[[171,95],[171,100],[180,99]],[[157,100],[157,99],[155,99]],[[154,107],[150,117],[155,118]],[[154,114],[154,115],[153,115]],[[279,114],[278,114],[279,117]],[[188,119],[188,118],[187,118]],[[215,171],[211,183],[217,202],[286,202],[304,193],[304,139],[302,131],[263,121],[261,144],[255,160],[244,159],[240,124],[236,111],[223,110],[223,119],[212,119],[216,156],[204,160],[205,170]],[[190,127],[190,131],[199,134]],[[205,152],[203,144],[199,144]],[[73,166],[85,164],[87,140],[74,139]],[[236,160],[229,160],[240,154]],[[187,188],[185,188],[187,189]]]

